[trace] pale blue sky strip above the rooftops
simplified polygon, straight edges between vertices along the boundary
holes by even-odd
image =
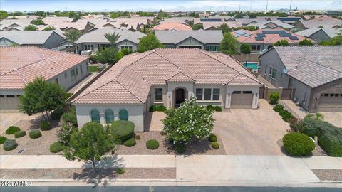
[[[290,0],[269,0],[269,10],[289,8]],[[96,1],[96,0],[0,0],[0,9],[5,11],[264,11],[264,1]],[[342,0],[336,1],[296,1],[293,9],[301,10],[342,10]]]

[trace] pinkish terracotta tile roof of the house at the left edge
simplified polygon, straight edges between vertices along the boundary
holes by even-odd
[[[0,88],[23,89],[38,76],[46,80],[88,58],[37,47],[0,47]]]

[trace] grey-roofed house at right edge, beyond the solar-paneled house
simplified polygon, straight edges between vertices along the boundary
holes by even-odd
[[[303,31],[296,32],[299,36],[310,38],[317,43],[321,41],[329,41],[338,33],[342,33],[341,28],[308,28]]]

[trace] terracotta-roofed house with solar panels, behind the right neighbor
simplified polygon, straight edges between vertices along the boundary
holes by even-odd
[[[286,40],[289,45],[298,45],[305,37],[291,33],[284,29],[259,29],[256,31],[238,30],[232,35],[237,38],[237,42],[247,43],[252,46],[253,53],[261,53],[273,47],[276,41]]]

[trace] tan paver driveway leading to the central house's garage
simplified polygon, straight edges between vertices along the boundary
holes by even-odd
[[[289,129],[266,100],[260,108],[215,112],[214,132],[221,138],[228,155],[282,155],[281,139]]]

